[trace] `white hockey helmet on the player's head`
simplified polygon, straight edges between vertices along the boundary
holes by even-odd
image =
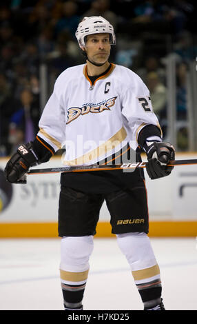
[[[116,43],[113,26],[101,16],[84,17],[76,30],[75,36],[82,48],[85,46],[85,37],[91,34],[109,33],[112,45]]]

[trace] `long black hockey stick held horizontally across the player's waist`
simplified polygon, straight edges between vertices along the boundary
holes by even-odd
[[[33,169],[27,174],[47,174],[47,173],[59,173],[59,172],[90,172],[90,171],[106,171],[106,170],[131,170],[136,168],[145,168],[147,162],[136,162],[136,163],[123,163],[114,165],[76,165],[60,168],[45,168],[45,169]],[[172,160],[169,161],[167,166],[175,165],[188,165],[197,164],[197,159],[191,160]]]

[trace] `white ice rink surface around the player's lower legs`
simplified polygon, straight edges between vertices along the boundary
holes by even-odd
[[[151,238],[166,310],[197,310],[196,238]],[[60,239],[0,239],[0,310],[63,310]],[[116,239],[94,239],[84,310],[143,310]]]

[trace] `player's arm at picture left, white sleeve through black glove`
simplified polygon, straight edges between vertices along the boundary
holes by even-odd
[[[34,165],[49,161],[61,148],[65,134],[65,116],[56,85],[39,121],[39,132],[29,143],[20,145],[8,161],[5,176],[10,183],[25,183],[25,173]]]

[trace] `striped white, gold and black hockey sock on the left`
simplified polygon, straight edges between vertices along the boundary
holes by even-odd
[[[83,310],[92,250],[92,236],[65,236],[61,240],[60,277],[65,310]]]

